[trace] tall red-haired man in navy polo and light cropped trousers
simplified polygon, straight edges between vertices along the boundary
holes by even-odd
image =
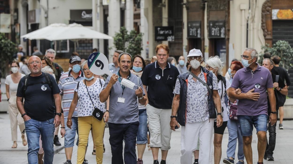
[[[158,60],[147,65],[142,73],[142,84],[146,93],[149,131],[151,133],[151,151],[154,164],[159,164],[159,148],[162,151],[161,164],[166,163],[168,150],[171,148],[170,116],[172,113],[173,89],[176,84],[178,69],[167,62],[169,46],[156,46]]]

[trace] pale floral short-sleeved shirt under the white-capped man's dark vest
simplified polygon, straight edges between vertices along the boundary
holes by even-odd
[[[205,75],[200,72],[198,77],[205,82]],[[217,77],[213,74],[213,89],[218,90]],[[177,79],[174,94],[180,94],[180,82]],[[187,98],[186,98],[186,122],[202,122],[209,119],[208,91],[201,82],[188,76]]]

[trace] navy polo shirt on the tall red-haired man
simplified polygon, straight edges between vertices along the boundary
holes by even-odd
[[[167,63],[164,70],[153,62],[144,68],[142,84],[148,86],[147,96],[149,104],[158,109],[171,109],[173,102],[173,90],[176,84],[178,69]]]

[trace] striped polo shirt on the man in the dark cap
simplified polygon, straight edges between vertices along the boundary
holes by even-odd
[[[63,113],[64,118],[67,118],[68,116],[69,108],[73,100],[74,88],[76,84],[79,81],[84,80],[84,72],[80,71],[79,76],[76,79],[74,79],[74,77],[71,76],[71,71],[72,70],[62,74],[58,84],[60,89],[60,94],[62,95],[62,109],[64,112]],[[77,108],[78,108],[78,105],[76,105],[74,112],[72,114],[72,117],[77,117]]]

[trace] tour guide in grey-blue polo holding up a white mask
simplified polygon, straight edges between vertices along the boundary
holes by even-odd
[[[105,102],[110,95],[109,106],[109,133],[112,151],[112,164],[123,163],[122,149],[123,138],[125,139],[124,162],[136,164],[135,144],[139,126],[138,102],[144,105],[147,98],[144,96],[142,81],[136,75],[130,73],[132,57],[129,53],[121,53],[118,57],[120,70],[109,76],[100,93],[100,101]],[[103,63],[105,64],[105,63]],[[121,85],[121,78],[130,80],[138,85],[130,89]],[[119,82],[117,82],[119,80]]]

